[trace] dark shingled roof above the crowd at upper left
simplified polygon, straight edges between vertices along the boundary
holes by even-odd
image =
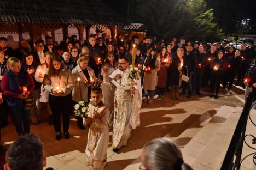
[[[0,22],[125,25],[100,0],[1,0]]]

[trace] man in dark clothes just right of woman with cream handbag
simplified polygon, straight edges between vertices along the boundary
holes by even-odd
[[[188,88],[188,96],[187,99],[191,98],[192,96],[192,81],[194,78],[194,74],[196,71],[197,66],[197,58],[193,52],[193,47],[191,45],[188,45],[186,47],[186,56],[184,57],[184,66],[183,66],[183,74],[189,76],[189,81],[182,82],[182,94],[185,94],[186,89]]]

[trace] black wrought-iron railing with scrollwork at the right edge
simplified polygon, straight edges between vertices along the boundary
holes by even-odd
[[[241,116],[238,120],[234,135],[232,136],[231,142],[229,144],[229,148],[226,151],[226,155],[224,158],[224,161],[222,163],[221,170],[239,170],[241,167],[241,163],[243,160],[245,160],[247,157],[253,155],[253,162],[254,165],[256,165],[256,162],[254,160],[254,157],[256,156],[256,148],[251,147],[251,145],[246,141],[246,138],[252,137],[252,144],[256,144],[256,138],[251,135],[245,135],[246,132],[246,126],[247,126],[247,120],[251,120],[252,124],[256,124],[252,121],[250,116],[250,110],[252,108],[253,102],[256,98],[256,88],[253,88],[252,92],[249,93],[245,106],[243,107],[243,111],[241,113]],[[252,154],[249,154],[245,156],[241,161],[241,155],[242,155],[242,149],[243,149],[243,143],[245,142],[246,145],[248,145],[249,148],[255,149],[255,152]]]

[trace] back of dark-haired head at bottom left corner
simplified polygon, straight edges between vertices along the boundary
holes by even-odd
[[[43,143],[34,135],[20,137],[7,150],[7,163],[11,170],[42,170]]]

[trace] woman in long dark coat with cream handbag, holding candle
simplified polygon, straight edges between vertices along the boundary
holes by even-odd
[[[170,87],[171,87],[171,98],[173,100],[179,100],[179,87],[181,86],[182,80],[182,69],[184,64],[184,49],[177,49],[177,56],[172,59],[170,66]]]

